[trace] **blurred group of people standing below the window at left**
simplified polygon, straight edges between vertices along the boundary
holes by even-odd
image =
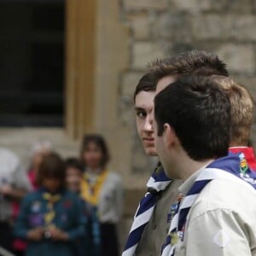
[[[0,248],[17,256],[119,255],[123,184],[108,169],[101,135],[86,135],[77,158],[62,159],[48,141],[19,158],[0,148]]]

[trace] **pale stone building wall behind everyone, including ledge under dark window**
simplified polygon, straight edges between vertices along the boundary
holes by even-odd
[[[212,51],[224,59],[230,73],[256,98],[253,86],[256,2],[98,0],[97,3],[95,126],[108,139],[113,169],[124,177],[125,222],[121,233],[125,237],[131,223],[129,217],[144,193],[156,161],[143,152],[133,109],[133,92],[148,61],[189,49]],[[256,142],[256,127],[253,130]],[[62,129],[0,130],[0,144],[24,159],[29,156],[32,142],[40,138],[52,140],[64,156],[79,151],[79,142],[68,138]]]

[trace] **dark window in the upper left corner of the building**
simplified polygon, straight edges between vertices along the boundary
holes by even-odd
[[[0,126],[62,126],[64,0],[0,0]]]

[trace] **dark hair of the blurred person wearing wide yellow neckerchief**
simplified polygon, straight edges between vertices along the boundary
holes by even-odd
[[[83,165],[86,166],[86,163],[84,163],[84,159],[83,159],[84,151],[86,150],[86,148],[90,143],[95,143],[96,146],[101,149],[102,151],[101,167],[102,168],[105,167],[110,160],[110,154],[109,154],[108,146],[105,139],[98,134],[89,134],[84,136],[82,147],[81,147],[81,160]]]

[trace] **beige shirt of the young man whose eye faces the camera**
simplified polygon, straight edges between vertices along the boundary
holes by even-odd
[[[138,244],[136,256],[160,255],[161,247],[166,241],[169,224],[167,214],[172,204],[177,202],[178,188],[182,181],[174,180],[164,191],[158,195],[154,212],[143,231],[143,236]]]

